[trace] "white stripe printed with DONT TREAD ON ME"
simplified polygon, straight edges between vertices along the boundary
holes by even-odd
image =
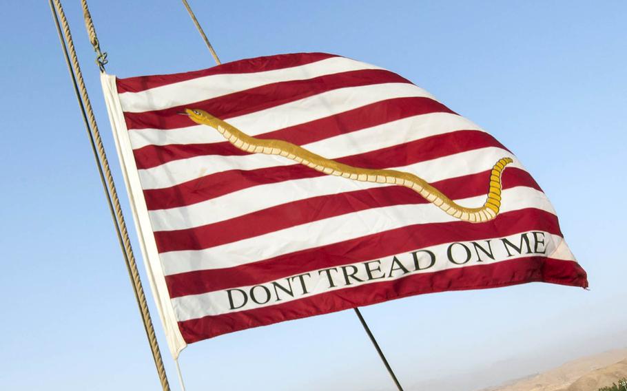
[[[536,232],[542,232],[542,231],[536,231]],[[522,233],[518,233],[516,235],[508,235],[505,238],[507,240],[510,240],[510,242],[517,244],[517,242],[520,242],[521,234]],[[529,236],[530,235],[528,235],[528,237]],[[538,253],[532,253],[531,255],[546,257],[547,254],[553,253],[555,249],[557,248],[557,246],[559,246],[559,243],[562,242],[561,236],[552,235],[551,233],[547,233],[547,232],[542,232],[542,235],[539,235],[539,237],[542,237],[542,241],[544,241],[544,245],[540,245],[538,247]],[[530,238],[530,241],[531,240],[533,239]],[[484,242],[482,241],[479,241],[479,243],[485,245]],[[531,244],[532,251],[535,250],[533,249],[534,244],[535,242]],[[351,270],[351,266],[353,266],[357,271],[357,273],[354,274],[354,277],[357,277],[358,279],[362,280],[362,282],[359,282],[356,279],[350,279],[350,282],[351,282],[350,286],[347,286],[345,280],[343,280],[344,276],[342,275],[342,272],[341,272],[342,266],[337,266],[336,271],[329,271],[329,273],[331,274],[331,278],[333,279],[333,284],[335,285],[333,287],[331,287],[329,284],[329,277],[327,277],[327,274],[326,274],[327,272],[325,272],[325,269],[316,269],[313,271],[309,271],[309,276],[307,276],[307,279],[305,279],[305,284],[307,286],[307,292],[308,292],[305,295],[303,295],[302,286],[299,283],[299,280],[295,278],[298,275],[294,275],[294,276],[275,280],[282,286],[291,286],[291,291],[294,293],[294,296],[290,296],[280,290],[277,290],[276,293],[274,293],[274,290],[271,285],[272,282],[267,282],[266,284],[260,284],[268,288],[270,295],[267,295],[267,293],[262,293],[264,292],[263,288],[258,288],[255,294],[260,295],[260,299],[258,299],[259,302],[265,302],[265,299],[269,298],[266,304],[258,304],[249,298],[244,306],[242,306],[241,308],[236,308],[232,310],[231,304],[229,303],[227,291],[216,290],[214,292],[201,293],[199,295],[175,297],[174,299],[172,299],[172,305],[174,306],[174,310],[176,312],[176,317],[178,317],[178,321],[186,321],[189,319],[198,319],[198,318],[205,317],[205,316],[214,316],[214,315],[220,315],[224,313],[236,313],[242,310],[252,310],[254,308],[263,308],[263,307],[268,307],[268,306],[272,306],[275,304],[284,304],[287,302],[292,302],[294,300],[301,299],[303,297],[311,297],[314,295],[320,295],[321,293],[327,293],[333,290],[338,290],[338,289],[348,288],[348,287],[353,288],[356,286],[373,284],[376,282],[393,281],[393,280],[402,279],[404,277],[409,277],[415,274],[433,273],[437,271],[444,271],[444,270],[450,270],[454,268],[462,268],[462,267],[477,266],[477,265],[483,266],[483,265],[488,265],[488,264],[496,264],[499,262],[506,262],[508,260],[516,260],[519,258],[530,256],[530,254],[526,253],[526,251],[523,251],[522,254],[517,254],[514,251],[512,256],[509,256],[503,242],[496,240],[490,246],[490,248],[492,249],[494,258],[495,258],[494,260],[491,259],[490,257],[482,255],[481,257],[482,262],[479,263],[477,262],[476,255],[473,255],[471,253],[471,259],[467,263],[455,264],[453,262],[449,262],[447,258],[447,251],[449,250],[450,245],[451,243],[445,243],[445,244],[438,244],[435,246],[429,246],[429,247],[425,247],[424,249],[421,249],[421,250],[431,251],[433,255],[435,255],[435,264],[433,264],[433,266],[431,266],[430,268],[426,268],[426,265],[429,265],[429,263],[431,262],[431,257],[428,255],[428,253],[417,254],[417,255],[420,255],[418,259],[419,259],[420,264],[424,265],[422,266],[422,267],[425,267],[424,270],[415,269],[413,256],[410,253],[400,253],[396,255],[390,255],[389,257],[378,258],[376,260],[367,260],[364,262],[357,262],[354,264],[342,265],[342,266],[348,267],[349,268],[348,270]],[[469,248],[472,249],[473,246],[469,246]],[[460,247],[460,245],[453,246],[452,249],[461,250],[462,252],[464,252],[464,250]],[[544,251],[544,254],[542,254],[543,251]],[[454,255],[454,256],[458,256],[458,255]],[[394,257],[396,258],[396,260],[398,260],[402,264],[404,268],[407,269],[407,271],[409,271],[409,273],[403,273],[402,269],[395,270],[393,273],[389,273],[393,265]],[[466,259],[466,254],[465,253],[461,254],[460,256],[458,256],[457,259],[460,259],[461,260],[460,262],[463,262],[463,260]],[[453,257],[453,260],[455,260],[455,257]],[[572,259],[566,258],[566,260],[572,260]],[[364,266],[365,262],[376,262],[376,264],[370,264],[369,266],[371,270],[371,275],[373,275],[372,270],[378,268],[379,271],[375,271],[374,275],[376,275],[377,277],[382,277],[382,278],[369,279],[368,272]],[[397,264],[395,264],[394,268],[399,269]],[[290,281],[293,280],[294,283],[287,285],[287,279],[289,279]],[[247,295],[250,295],[251,288],[253,287],[254,286],[239,286],[237,288],[244,290],[247,293]],[[243,299],[240,299],[239,293],[236,292],[233,295],[235,297],[234,302],[236,300],[241,300],[241,302],[243,302]],[[240,302],[237,303],[237,306],[239,305],[240,305]]]

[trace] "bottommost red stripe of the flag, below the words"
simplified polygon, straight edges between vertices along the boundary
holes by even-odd
[[[333,313],[400,297],[446,290],[496,288],[525,282],[551,282],[584,288],[588,286],[586,272],[576,262],[527,257],[435,273],[413,274],[395,281],[334,290],[285,304],[181,321],[178,322],[178,328],[187,344],[192,344],[227,332]]]

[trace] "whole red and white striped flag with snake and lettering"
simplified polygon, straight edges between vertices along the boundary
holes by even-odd
[[[515,156],[398,74],[305,53],[102,81],[175,357],[408,295],[587,286]]]

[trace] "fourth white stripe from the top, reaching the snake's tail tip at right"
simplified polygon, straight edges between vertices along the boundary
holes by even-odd
[[[418,162],[405,167],[393,167],[393,169],[416,173],[427,182],[433,183],[447,178],[456,178],[486,171],[491,169],[497,160],[506,157],[514,159],[514,163],[507,167],[522,169],[515,156],[496,147],[476,149]],[[486,189],[487,185],[486,183]],[[347,178],[325,175],[316,178],[261,184],[187,207],[161,209],[149,211],[149,213],[154,231],[172,231],[213,224],[253,213],[254,211],[276,207],[287,202],[381,186],[388,185],[358,182]],[[416,196],[420,197],[420,195]]]

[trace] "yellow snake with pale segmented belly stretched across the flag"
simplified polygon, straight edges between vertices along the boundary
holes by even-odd
[[[240,129],[229,125],[220,118],[216,118],[201,109],[185,109],[185,113],[199,125],[209,125],[216,129],[232,145],[245,152],[253,154],[280,155],[295,162],[311,167],[316,171],[333,176],[342,176],[362,182],[376,182],[398,184],[409,187],[416,193],[442,209],[454,218],[468,222],[486,222],[492,220],[499,213],[501,206],[501,173],[505,166],[513,162],[511,158],[502,158],[492,167],[489,192],[486,202],[480,208],[466,208],[456,204],[453,200],[435,189],[428,182],[415,176],[413,173],[389,169],[362,169],[343,165],[335,160],[323,158],[307,149],[282,140],[260,139],[248,136]]]

